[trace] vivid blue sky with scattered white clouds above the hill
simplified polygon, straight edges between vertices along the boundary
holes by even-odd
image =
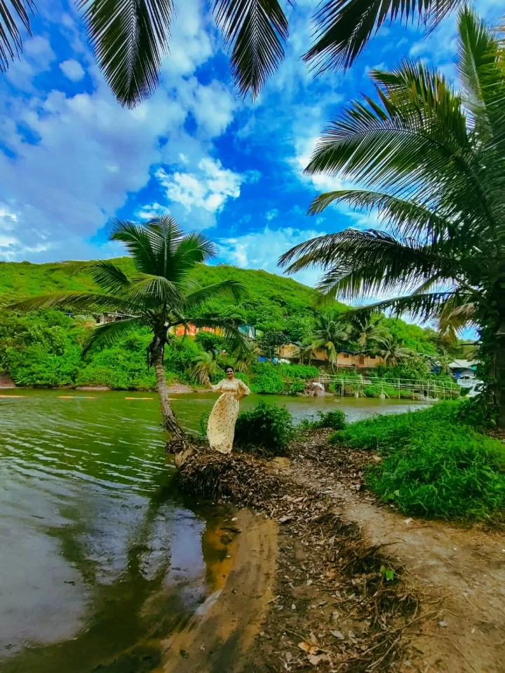
[[[300,55],[316,3],[301,0],[286,3],[283,64],[257,100],[241,100],[208,5],[175,0],[161,85],[128,110],[107,88],[74,6],[38,6],[25,52],[0,75],[0,260],[114,257],[122,248],[107,241],[109,218],[170,212],[215,241],[216,262],[281,273],[278,257],[292,245],[377,224],[344,206],[307,216],[314,196],[339,182],[303,175],[325,125],[372,93],[370,69],[410,57],[456,76],[451,16],[428,37],[383,27],[348,72],[315,77]],[[500,6],[476,4],[492,25]],[[314,285],[318,271],[296,278]]]

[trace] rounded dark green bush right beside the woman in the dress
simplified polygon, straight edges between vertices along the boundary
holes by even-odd
[[[294,432],[288,409],[262,400],[253,409],[238,414],[235,444],[251,453],[283,456],[288,453]]]

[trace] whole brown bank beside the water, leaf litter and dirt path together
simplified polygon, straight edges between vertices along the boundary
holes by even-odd
[[[204,452],[182,468],[184,491],[202,497],[213,484],[213,500],[278,526],[261,630],[243,667],[220,673],[501,673],[504,533],[406,519],[365,488],[372,454],[330,446],[328,434],[297,440],[291,460]]]

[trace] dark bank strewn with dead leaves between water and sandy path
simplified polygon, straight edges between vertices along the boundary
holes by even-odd
[[[380,545],[365,541],[358,526],[336,515],[325,494],[299,484],[288,464],[200,451],[182,465],[183,490],[248,505],[278,526],[276,573],[271,598],[260,604],[257,636],[248,651],[240,648],[236,662],[227,655],[227,665],[222,660],[213,668],[203,651],[206,668],[200,670],[399,671],[405,634],[421,619],[408,576]],[[241,604],[246,614],[251,606],[257,609],[250,599]],[[241,639],[241,630],[231,638]],[[192,673],[187,662],[168,671]]]

